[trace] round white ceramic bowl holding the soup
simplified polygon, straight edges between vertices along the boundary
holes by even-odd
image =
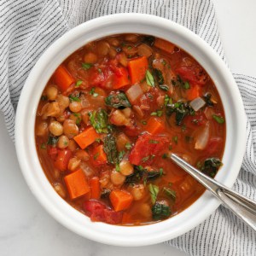
[[[195,33],[153,15],[120,14],[90,20],[73,28],[52,44],[32,68],[22,90],[16,114],[15,140],[26,183],[32,194],[57,221],[94,241],[119,246],[143,246],[172,239],[193,229],[219,206],[219,201],[205,192],[189,208],[157,224],[125,227],[93,223],[55,193],[40,166],[34,138],[38,102],[55,68],[84,44],[126,32],[149,34],[177,44],[193,55],[212,77],[224,103],[227,126],[224,166],[216,179],[231,187],[240,170],[246,143],[246,118],[236,82],[215,51]]]

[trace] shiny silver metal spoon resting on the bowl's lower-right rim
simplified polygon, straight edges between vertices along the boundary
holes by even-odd
[[[256,202],[248,199],[247,197],[238,194],[232,189],[228,189],[221,183],[218,183],[206,174],[198,171],[195,167],[190,166],[186,161],[177,156],[177,154],[170,154],[170,158],[184,171],[189,172],[192,177],[204,185],[208,190],[215,195],[225,207],[236,214],[247,223],[253,230],[256,231]]]

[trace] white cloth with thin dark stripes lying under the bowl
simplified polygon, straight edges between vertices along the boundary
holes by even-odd
[[[86,20],[124,12],[158,15],[187,26],[224,60],[210,0],[1,0],[0,108],[13,140],[20,91],[44,50]],[[234,77],[247,113],[247,151],[234,188],[256,201],[256,79]],[[256,255],[256,234],[224,207],[167,243],[189,255]]]

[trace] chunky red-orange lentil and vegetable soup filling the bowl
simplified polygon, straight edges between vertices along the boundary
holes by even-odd
[[[92,221],[151,224],[204,191],[168,154],[212,177],[222,165],[224,108],[183,49],[121,34],[84,45],[55,70],[35,137],[49,182],[71,206]]]

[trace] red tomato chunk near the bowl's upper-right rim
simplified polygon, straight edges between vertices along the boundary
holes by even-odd
[[[198,65],[178,67],[176,72],[183,80],[187,80],[191,84],[204,85],[208,80],[207,73]]]

